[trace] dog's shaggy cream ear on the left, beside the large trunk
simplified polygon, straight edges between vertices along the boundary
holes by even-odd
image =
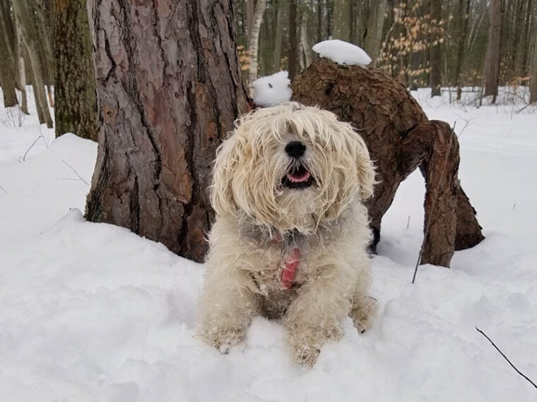
[[[233,199],[232,178],[242,154],[238,135],[232,134],[216,151],[216,160],[211,187],[211,204],[217,216],[235,214],[237,205]]]

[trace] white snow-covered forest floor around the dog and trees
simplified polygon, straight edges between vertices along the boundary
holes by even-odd
[[[35,116],[16,128],[0,104],[0,400],[536,401],[476,327],[537,381],[537,114],[428,93],[414,95],[430,118],[456,121],[486,239],[412,285],[424,193],[413,174],[372,260],[376,324],[360,335],[347,320],[311,370],[293,365],[278,322],[255,319],[228,355],[194,339],[203,266],[84,221],[95,143],[54,140]]]

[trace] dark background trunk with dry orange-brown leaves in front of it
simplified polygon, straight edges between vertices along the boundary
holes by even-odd
[[[442,0],[430,0],[431,27],[430,50],[429,50],[429,80],[431,86],[431,97],[442,95]]]

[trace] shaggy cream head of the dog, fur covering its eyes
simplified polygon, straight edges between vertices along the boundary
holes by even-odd
[[[348,123],[289,102],[237,121],[217,152],[211,200],[217,217],[242,211],[268,229],[311,233],[370,197],[373,184],[365,143]]]

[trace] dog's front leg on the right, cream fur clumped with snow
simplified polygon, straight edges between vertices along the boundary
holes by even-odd
[[[343,264],[319,267],[317,278],[302,286],[283,317],[295,361],[312,366],[326,341],[341,339],[341,321],[350,310],[353,272]]]

